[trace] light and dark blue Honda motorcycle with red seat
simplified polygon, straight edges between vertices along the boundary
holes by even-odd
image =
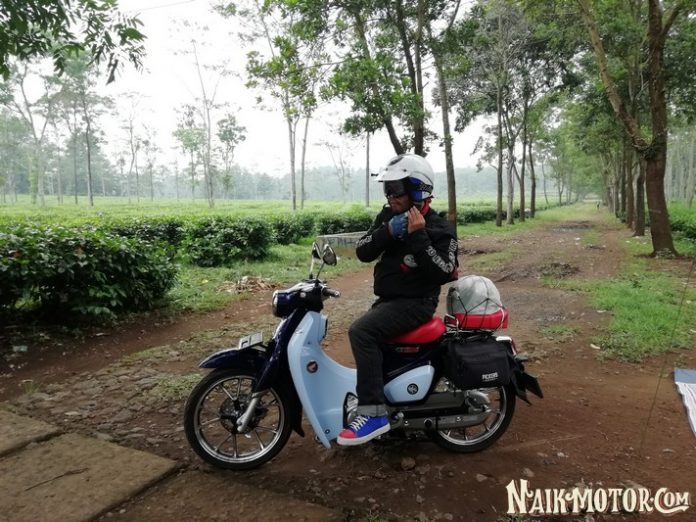
[[[313,276],[316,261],[321,266]],[[200,363],[212,371],[186,402],[184,428],[189,444],[206,462],[232,470],[264,464],[282,450],[292,431],[305,435],[303,411],[316,440],[330,448],[355,416],[356,370],[338,364],[321,347],[328,325],[323,303],[340,292],[319,275],[336,261],[330,245],[322,251],[315,243],[309,278],[273,293],[273,314],[280,323],[272,338],[265,343],[260,333],[248,335]],[[505,433],[516,398],[529,402],[527,391],[543,397],[512,338],[494,335],[507,324],[507,311],[500,313],[505,315],[479,316],[483,322],[475,326],[467,317],[434,317],[385,344],[384,394],[391,430],[381,439],[424,434],[447,450],[478,452]],[[474,362],[483,360],[484,365],[473,384],[452,376],[453,344],[467,354],[476,352],[470,346],[479,348]],[[496,351],[510,370],[503,380],[486,367],[485,354]]]

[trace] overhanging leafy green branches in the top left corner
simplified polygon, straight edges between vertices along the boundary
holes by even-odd
[[[119,13],[115,0],[3,0],[0,4],[0,75],[10,74],[12,57],[50,56],[59,73],[66,59],[87,52],[106,62],[108,81],[125,58],[136,67],[144,54],[137,17]]]

